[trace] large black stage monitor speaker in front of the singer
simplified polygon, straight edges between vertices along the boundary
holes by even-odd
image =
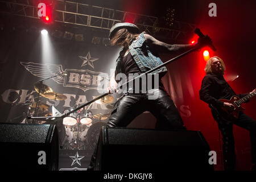
[[[163,131],[102,126],[95,171],[213,170],[200,131]]]

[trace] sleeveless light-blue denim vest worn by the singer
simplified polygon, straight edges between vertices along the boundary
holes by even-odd
[[[137,63],[141,72],[146,72],[150,69],[158,67],[160,64],[163,64],[162,60],[159,57],[153,55],[148,47],[147,43],[145,42],[144,32],[139,35],[139,38],[132,42],[129,46],[129,51],[133,59]],[[121,56],[115,62],[115,76],[118,73],[121,73]],[[156,71],[152,72],[151,74],[159,73],[159,78],[163,77],[167,73],[166,67],[161,67]]]

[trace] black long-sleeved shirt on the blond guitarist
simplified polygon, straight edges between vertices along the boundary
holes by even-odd
[[[200,99],[208,104],[222,106],[224,102],[220,98],[230,99],[237,95],[229,86],[224,77],[215,75],[213,73],[205,75],[203,78],[201,89],[199,90]],[[242,98],[247,94],[238,94]]]

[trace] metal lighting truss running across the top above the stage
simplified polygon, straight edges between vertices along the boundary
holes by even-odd
[[[38,7],[32,0],[0,0],[0,13],[10,13],[28,18],[38,18]],[[124,22],[129,16],[140,30],[173,40],[185,40],[192,35],[195,24],[174,20],[171,28],[158,27],[158,17],[92,6],[84,3],[56,0],[53,10],[55,22],[74,24],[110,30],[118,22]]]

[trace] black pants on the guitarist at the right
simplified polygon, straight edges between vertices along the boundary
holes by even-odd
[[[234,135],[233,135],[233,123],[246,130],[250,131],[251,140],[251,162],[256,163],[256,121],[246,114],[240,112],[238,119],[234,122],[226,122],[221,118],[216,119],[218,123],[218,129],[222,134],[222,152],[224,159],[224,169],[234,170],[236,169],[236,154],[234,150]]]

